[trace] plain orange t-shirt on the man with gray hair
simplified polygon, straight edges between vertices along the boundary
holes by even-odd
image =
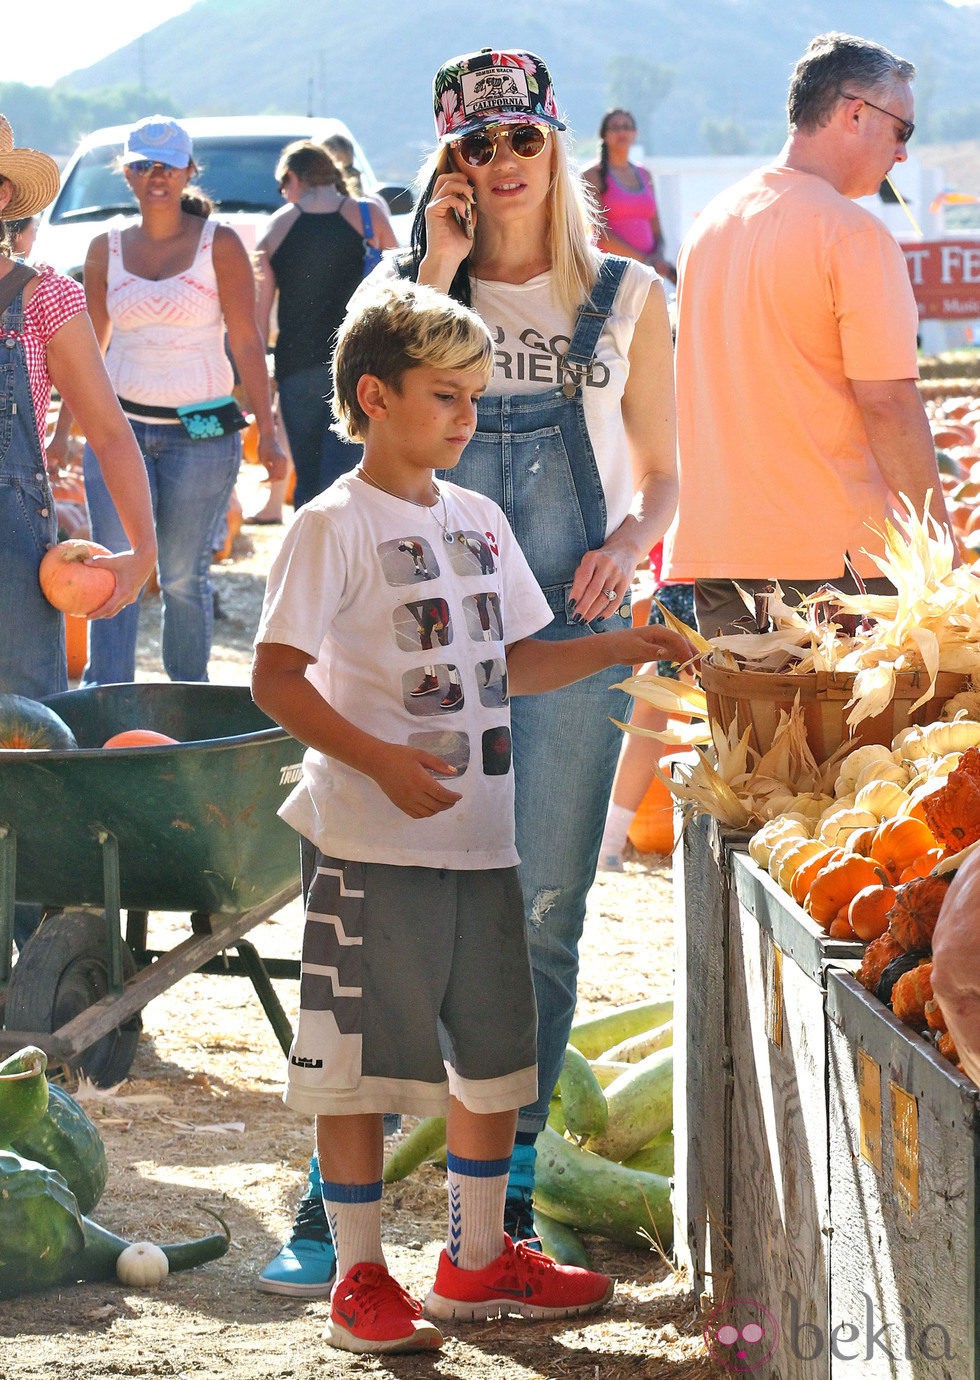
[[[918,378],[899,244],[809,172],[766,167],[701,213],[678,259],[680,494],[671,580],[824,580],[892,512],[850,379]]]

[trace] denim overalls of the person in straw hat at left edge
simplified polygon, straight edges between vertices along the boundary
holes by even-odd
[[[37,582],[58,520],[37,439],[23,349],[23,288],[0,330],[0,691],[68,690],[65,622]]]

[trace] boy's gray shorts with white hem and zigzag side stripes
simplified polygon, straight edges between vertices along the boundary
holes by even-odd
[[[473,1112],[534,1101],[516,868],[391,867],[313,850],[311,872],[286,1105],[432,1116],[450,1093]]]

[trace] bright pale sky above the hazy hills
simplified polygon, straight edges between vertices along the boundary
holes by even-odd
[[[948,0],[980,4],[980,0]],[[4,12],[7,81],[50,86],[68,72],[87,68],[141,33],[155,29],[193,0],[28,0]],[[7,58],[14,54],[8,66]]]

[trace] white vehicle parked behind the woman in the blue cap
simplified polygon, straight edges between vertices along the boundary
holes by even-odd
[[[402,243],[411,228],[413,196],[406,186],[382,186],[355,137],[341,120],[305,116],[222,116],[181,120],[193,141],[197,177],[214,201],[214,215],[242,236],[248,251],[273,211],[283,206],[276,185],[276,161],[293,139],[317,144],[341,134],[355,149],[366,193],[381,196],[392,211]],[[117,168],[130,126],[95,130],[65,164],[61,190],[41,214],[32,258],[81,280],[92,239],[110,225],[127,225],[137,203]]]

